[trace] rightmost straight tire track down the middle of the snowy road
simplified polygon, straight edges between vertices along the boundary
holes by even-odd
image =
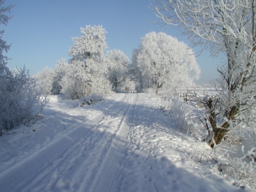
[[[95,172],[95,177],[90,184],[90,188],[83,188],[79,191],[113,191],[113,187],[118,187],[120,158],[122,158],[125,141],[132,127],[134,108],[138,99],[138,93],[131,95],[133,98],[124,113],[113,140],[111,140],[111,143],[106,147],[105,154],[103,154],[104,157],[102,162],[98,164],[99,168],[97,168]],[[116,190],[118,189],[115,189],[115,191]]]

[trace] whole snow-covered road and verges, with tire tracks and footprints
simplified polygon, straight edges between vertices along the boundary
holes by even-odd
[[[196,143],[158,100],[115,94],[85,108],[51,96],[45,118],[0,138],[0,191],[237,191],[185,161]]]

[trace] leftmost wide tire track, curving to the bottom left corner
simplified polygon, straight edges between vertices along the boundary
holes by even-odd
[[[116,99],[116,102],[118,103],[116,104],[116,102],[114,102],[111,105],[111,111],[107,115],[104,115],[103,117],[102,115],[99,115],[93,118],[92,122],[84,122],[77,125],[77,127],[74,127],[72,131],[67,132],[67,134],[65,134],[62,138],[52,141],[40,151],[8,168],[7,170],[4,170],[4,172],[0,173],[0,190],[29,191],[29,189],[33,189],[40,179],[46,177],[52,172],[52,170],[54,170],[54,168],[56,168],[56,166],[65,161],[65,158],[63,157],[67,157],[74,150],[74,148],[79,145],[79,143],[83,142],[86,139],[84,136],[91,133],[90,130],[93,129],[93,127],[104,121],[104,118],[109,116],[113,110],[115,111],[115,109],[118,108],[126,97],[127,95],[121,95],[118,99]],[[84,129],[84,127],[88,127],[88,129]],[[54,163],[56,159],[62,160]],[[44,170],[47,171],[45,172]]]

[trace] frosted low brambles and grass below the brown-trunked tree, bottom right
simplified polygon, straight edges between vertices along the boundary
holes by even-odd
[[[235,126],[236,125],[236,126]],[[232,180],[234,185],[242,188],[256,189],[256,134],[255,125],[234,123],[225,137],[214,148],[195,148],[189,159],[193,161],[215,161],[214,174]],[[207,148],[207,149],[206,149]]]

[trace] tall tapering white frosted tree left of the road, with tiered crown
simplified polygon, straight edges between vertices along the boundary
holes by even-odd
[[[68,54],[65,76],[60,81],[61,92],[68,99],[79,99],[92,93],[106,95],[111,92],[108,81],[108,66],[104,65],[103,52],[107,49],[106,30],[102,26],[81,28],[81,37],[74,37],[74,45]]]

